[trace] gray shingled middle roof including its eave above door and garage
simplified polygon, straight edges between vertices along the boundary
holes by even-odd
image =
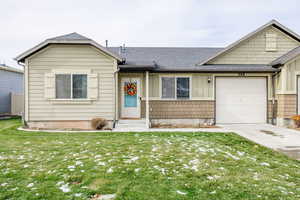
[[[119,47],[109,47],[120,53]],[[119,54],[126,59],[121,71],[153,72],[274,72],[270,65],[196,65],[199,60],[218,53],[222,48],[126,47]]]

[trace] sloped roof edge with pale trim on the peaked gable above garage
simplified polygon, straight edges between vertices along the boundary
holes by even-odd
[[[292,30],[290,30],[287,27],[283,26],[282,24],[280,24],[276,20],[272,20],[269,23],[259,27],[255,31],[253,31],[253,32],[247,34],[246,36],[242,37],[240,40],[232,43],[231,45],[229,45],[228,47],[226,47],[225,49],[223,49],[219,53],[213,55],[212,57],[210,57],[210,58],[208,58],[208,59],[206,59],[202,62],[200,61],[200,63],[198,63],[198,65],[208,64],[209,62],[211,62],[211,61],[213,61],[217,58],[220,58],[221,56],[223,56],[226,53],[230,52],[232,49],[234,49],[237,46],[241,45],[243,42],[249,40],[250,38],[254,37],[255,35],[259,34],[260,32],[263,32],[263,31],[265,31],[265,30],[267,30],[268,28],[271,28],[271,27],[274,27],[275,29],[281,31],[282,34],[286,34],[286,36],[289,36],[293,40],[300,42],[300,36],[297,33],[293,32]]]

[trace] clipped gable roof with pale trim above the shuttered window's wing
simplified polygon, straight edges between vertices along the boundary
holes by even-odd
[[[97,42],[95,42],[95,41],[93,41],[93,40],[91,40],[91,39],[89,39],[89,38],[87,38],[83,35],[75,33],[75,32],[70,33],[70,34],[66,34],[66,35],[61,35],[61,36],[49,38],[49,39],[41,42],[40,44],[34,46],[33,48],[25,51],[24,53],[20,54],[19,56],[17,56],[15,58],[15,60],[18,61],[18,62],[23,62],[24,63],[25,58],[37,53],[38,51],[45,48],[49,44],[89,44],[89,45],[92,45],[92,46],[96,47],[97,49],[104,52],[105,54],[117,59],[118,61],[122,61],[122,59],[119,56],[112,53],[111,51],[109,51],[105,47],[101,46]]]

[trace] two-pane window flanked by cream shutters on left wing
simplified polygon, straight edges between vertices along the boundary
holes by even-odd
[[[86,99],[86,74],[56,74],[56,99]]]

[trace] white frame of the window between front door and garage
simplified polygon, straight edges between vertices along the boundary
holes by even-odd
[[[175,97],[174,98],[162,98],[162,78],[175,78]],[[189,78],[189,98],[178,99],[177,98],[177,78]],[[191,75],[160,75],[159,76],[159,98],[165,101],[185,101],[192,99],[192,76]]]

